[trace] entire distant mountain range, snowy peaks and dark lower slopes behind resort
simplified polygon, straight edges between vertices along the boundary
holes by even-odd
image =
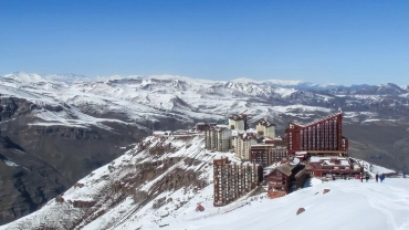
[[[409,86],[174,75],[0,77],[0,224],[40,209],[151,130],[247,113],[276,124],[344,114],[352,156],[408,169]]]

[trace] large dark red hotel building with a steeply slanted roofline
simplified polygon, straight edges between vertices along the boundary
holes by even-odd
[[[307,125],[290,123],[285,129],[290,155],[347,156],[348,139],[343,136],[343,114],[334,114]]]

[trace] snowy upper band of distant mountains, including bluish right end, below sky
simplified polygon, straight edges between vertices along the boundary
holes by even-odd
[[[92,116],[90,121],[94,123],[98,123],[95,117],[109,112],[120,113],[128,121],[143,124],[164,117],[189,122],[221,119],[227,113],[242,111],[247,111],[253,121],[272,116],[281,123],[283,116],[290,115],[307,122],[316,118],[316,112],[334,113],[339,108],[349,122],[392,121],[409,112],[408,93],[408,90],[391,83],[342,86],[248,79],[217,82],[172,75],[92,80],[75,74],[18,72],[0,79],[0,94],[3,96],[24,98],[40,106],[74,106]],[[52,119],[46,122],[54,124],[67,122],[67,116],[62,114],[54,114],[53,118],[38,116]]]

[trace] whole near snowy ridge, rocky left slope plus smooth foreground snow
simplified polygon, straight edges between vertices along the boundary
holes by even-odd
[[[283,198],[271,200],[258,190],[216,208],[212,159],[239,159],[203,147],[201,136],[148,137],[39,211],[0,230],[409,228],[409,185],[403,178],[324,184],[313,178],[311,187]],[[389,171],[373,166],[369,172]],[[197,203],[204,211],[197,212]],[[297,215],[300,208],[305,210]]]

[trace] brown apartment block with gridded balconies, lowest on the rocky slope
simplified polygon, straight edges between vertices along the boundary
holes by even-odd
[[[258,186],[258,166],[230,163],[228,158],[213,160],[214,206],[226,206]]]

